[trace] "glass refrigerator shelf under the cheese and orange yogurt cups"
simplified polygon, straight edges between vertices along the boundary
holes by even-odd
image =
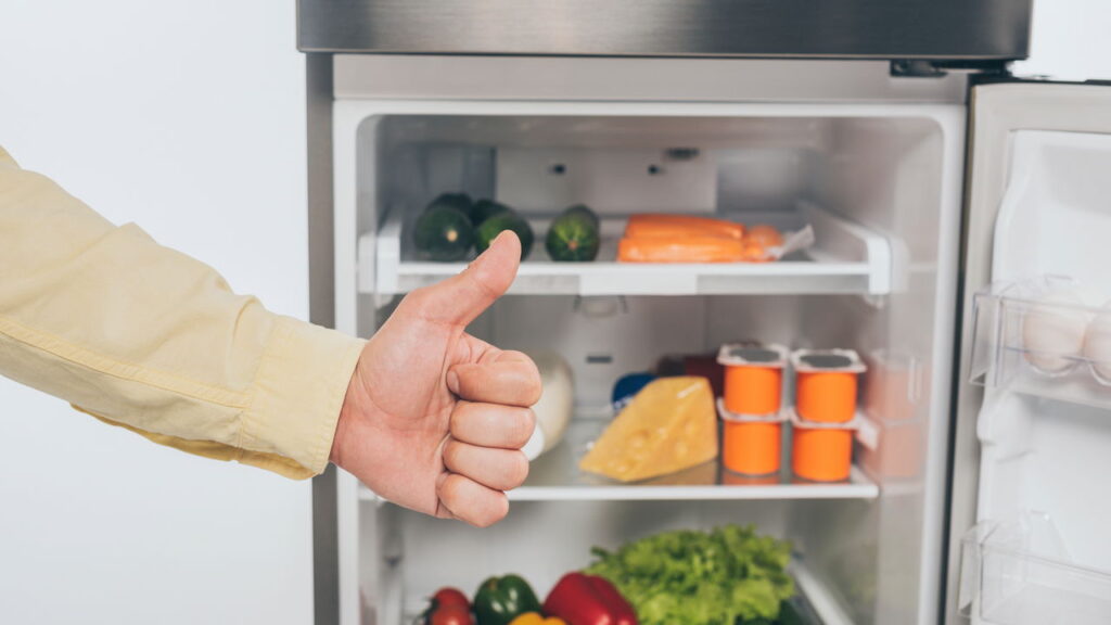
[[[567,437],[532,462],[529,478],[508,493],[511,502],[644,502],[740,499],[874,499],[879,486],[853,466],[849,479],[815,483],[791,475],[789,463],[781,473],[749,477],[732,474],[714,460],[697,467],[634,484],[622,484],[579,470],[579,459],[609,421],[577,418]],[[359,496],[381,502],[367,487]]]

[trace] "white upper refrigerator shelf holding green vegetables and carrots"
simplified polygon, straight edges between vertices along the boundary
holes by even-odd
[[[406,211],[394,207],[376,232],[359,239],[359,290],[394,295],[436,284],[462,271],[466,262],[417,258],[404,228]],[[518,295],[743,295],[871,294],[892,288],[891,244],[881,235],[809,202],[794,214],[748,216],[750,224],[782,229],[809,224],[811,248],[775,262],[617,262],[624,219],[602,219],[602,245],[592,262],[552,262],[543,236],[550,219],[530,219],[537,235],[529,259],[510,288]]]

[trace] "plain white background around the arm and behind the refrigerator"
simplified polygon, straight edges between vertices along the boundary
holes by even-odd
[[[0,145],[308,312],[291,0],[0,0]],[[1041,0],[1021,73],[1111,78],[1111,3]],[[310,488],[0,379],[0,623],[304,624]]]

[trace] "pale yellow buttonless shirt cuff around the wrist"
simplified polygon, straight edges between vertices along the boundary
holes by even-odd
[[[243,415],[237,447],[244,454],[239,462],[252,464],[252,452],[273,454],[303,468],[279,470],[289,477],[322,473],[348,384],[366,343],[279,317],[259,366],[251,405]]]

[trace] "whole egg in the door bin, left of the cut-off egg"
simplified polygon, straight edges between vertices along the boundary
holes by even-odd
[[[1023,355],[1044,374],[1068,373],[1084,345],[1091,315],[1074,306],[1083,300],[1073,289],[1050,291],[1027,310],[1022,319]]]

